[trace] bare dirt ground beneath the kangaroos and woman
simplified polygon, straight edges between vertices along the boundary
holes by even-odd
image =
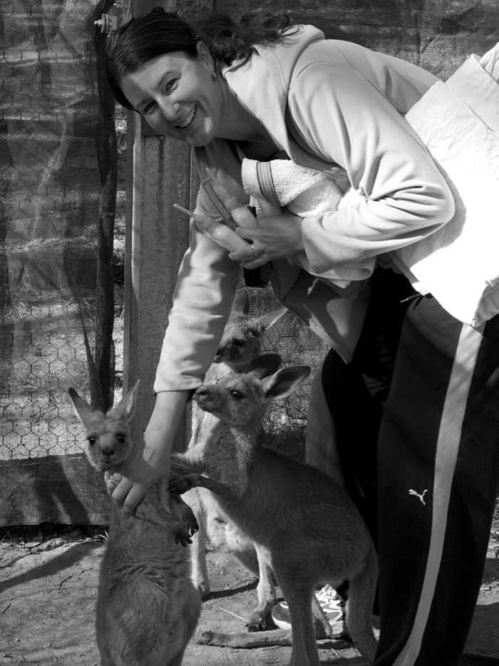
[[[93,622],[105,541],[98,531],[88,536],[86,528],[37,530],[24,528],[21,534],[6,530],[0,543],[0,665],[98,666]],[[499,665],[497,545],[491,538],[467,651],[495,657]],[[245,618],[256,603],[256,580],[223,550],[208,550],[207,558],[212,594],[203,603],[197,631],[244,631]],[[284,666],[290,651],[290,647],[210,647],[194,638],[184,664]],[[321,641],[319,654],[321,665],[365,664],[345,641]]]

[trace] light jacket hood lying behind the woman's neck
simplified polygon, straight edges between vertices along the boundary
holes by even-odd
[[[246,63],[235,61],[222,75],[240,103],[267,125],[275,143],[293,158],[285,122],[289,86],[295,63],[310,44],[324,40],[324,33],[314,26],[292,26],[288,32],[282,42],[254,46]]]

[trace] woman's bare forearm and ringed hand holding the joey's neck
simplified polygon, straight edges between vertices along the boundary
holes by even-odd
[[[108,494],[126,513],[135,511],[150,486],[170,476],[173,440],[188,396],[189,391],[158,393],[143,442],[117,471],[105,472]]]

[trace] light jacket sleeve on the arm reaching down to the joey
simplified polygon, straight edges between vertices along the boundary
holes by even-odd
[[[200,192],[195,212],[216,215]],[[163,339],[154,390],[193,390],[202,384],[229,316],[240,265],[227,250],[197,231],[180,265]]]

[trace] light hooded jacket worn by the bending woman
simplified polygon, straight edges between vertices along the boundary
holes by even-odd
[[[453,216],[451,191],[403,118],[437,81],[406,61],[300,26],[282,43],[255,46],[247,63],[222,70],[242,103],[295,163],[329,174],[355,205],[302,221],[307,267],[298,257],[272,262],[272,285],[294,310],[351,360],[369,299],[369,277],[386,252],[421,240]],[[195,149],[201,177],[247,203],[242,153],[227,140]],[[196,212],[220,215],[205,183]],[[191,222],[191,242],[173,296],[155,391],[195,389],[217,351],[240,279],[233,262]],[[334,280],[350,280],[342,290]],[[342,282],[344,283],[344,282]]]

